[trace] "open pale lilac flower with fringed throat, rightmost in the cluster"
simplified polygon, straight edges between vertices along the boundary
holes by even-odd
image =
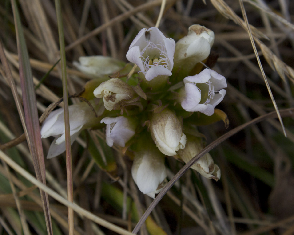
[[[225,77],[211,69],[184,78],[185,97],[181,101],[183,109],[188,112],[199,111],[208,116],[213,115],[214,108],[224,98],[227,87]]]

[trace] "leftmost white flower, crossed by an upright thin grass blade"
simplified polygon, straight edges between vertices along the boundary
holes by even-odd
[[[90,102],[95,106],[94,101]],[[97,122],[98,118],[85,102],[69,106],[69,127],[71,144],[79,133]],[[56,137],[52,142],[47,158],[56,157],[65,151],[64,109],[59,108],[49,114],[41,127],[41,138]]]

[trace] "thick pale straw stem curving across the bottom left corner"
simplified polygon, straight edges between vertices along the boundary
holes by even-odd
[[[21,174],[23,177],[25,177],[27,180],[29,180],[31,183],[35,184],[37,187],[39,187],[41,190],[43,190],[44,192],[48,193],[51,197],[53,197],[54,199],[56,199],[58,202],[64,204],[67,207],[70,207],[72,209],[74,209],[74,211],[76,211],[77,213],[85,216],[88,219],[91,219],[93,222],[107,228],[110,229],[111,231],[114,231],[118,234],[121,235],[131,235],[132,233],[130,233],[129,231],[122,229],[116,225],[113,225],[111,223],[109,223],[108,221],[99,218],[98,216],[92,214],[91,212],[88,212],[87,210],[83,209],[82,207],[69,202],[68,200],[64,199],[63,197],[61,197],[58,193],[54,192],[52,189],[50,189],[49,187],[47,187],[46,185],[40,183],[35,177],[33,177],[31,174],[29,174],[26,170],[24,170],[21,166],[19,166],[16,162],[14,162],[13,160],[11,160],[11,158],[9,158],[4,152],[2,152],[0,150],[0,158],[2,160],[4,160],[11,168],[13,168],[16,172],[18,172],[19,174]]]

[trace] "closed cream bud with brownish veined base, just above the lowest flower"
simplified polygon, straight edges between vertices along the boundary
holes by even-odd
[[[163,154],[173,156],[185,147],[186,135],[181,122],[171,110],[166,108],[160,113],[152,113],[150,121],[151,137]]]

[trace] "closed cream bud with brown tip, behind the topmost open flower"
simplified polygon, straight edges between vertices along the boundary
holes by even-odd
[[[196,63],[209,56],[213,41],[214,33],[210,29],[198,24],[190,26],[188,35],[176,43],[174,69],[188,75]]]

